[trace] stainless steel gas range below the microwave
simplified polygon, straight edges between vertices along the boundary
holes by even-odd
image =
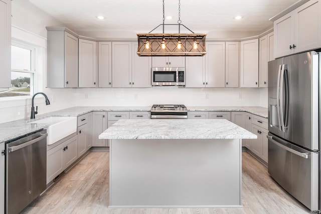
[[[151,119],[187,119],[185,105],[152,105]]]

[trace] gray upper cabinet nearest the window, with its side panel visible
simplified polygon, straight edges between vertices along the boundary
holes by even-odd
[[[78,87],[78,37],[66,28],[47,28],[48,87]]]

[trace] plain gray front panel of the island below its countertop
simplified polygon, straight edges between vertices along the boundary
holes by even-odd
[[[240,207],[240,139],[112,139],[109,207]]]

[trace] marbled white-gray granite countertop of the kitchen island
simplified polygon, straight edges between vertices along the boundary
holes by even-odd
[[[118,120],[99,139],[256,139],[226,119]]]

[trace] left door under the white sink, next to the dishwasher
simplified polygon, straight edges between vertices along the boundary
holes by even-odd
[[[47,184],[64,170],[64,143],[47,151]]]

